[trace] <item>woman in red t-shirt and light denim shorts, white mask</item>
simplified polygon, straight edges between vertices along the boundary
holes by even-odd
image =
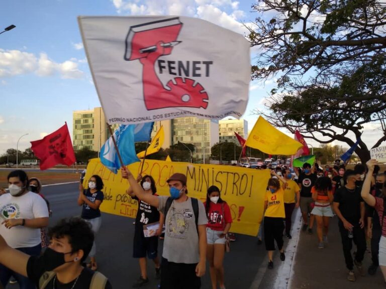
[[[220,197],[220,189],[216,186],[208,188],[207,201],[204,203],[208,217],[207,224],[207,259],[210,265],[212,288],[225,289],[224,285],[224,254],[225,237],[232,224],[231,209]]]

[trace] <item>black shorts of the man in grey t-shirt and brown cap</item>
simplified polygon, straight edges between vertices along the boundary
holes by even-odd
[[[162,258],[161,289],[200,289],[201,278],[196,275],[196,266]]]

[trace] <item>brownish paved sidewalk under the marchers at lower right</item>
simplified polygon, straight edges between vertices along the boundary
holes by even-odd
[[[365,253],[363,260],[366,275],[360,276],[356,268],[354,268],[356,281],[350,282],[347,280],[348,270],[344,262],[337,216],[330,221],[328,238],[329,242],[325,248],[318,249],[316,223],[312,235],[300,232],[288,289],[386,288],[379,268],[373,276],[367,273],[367,268],[371,264],[369,252]],[[355,250],[354,248],[355,245],[352,251]]]

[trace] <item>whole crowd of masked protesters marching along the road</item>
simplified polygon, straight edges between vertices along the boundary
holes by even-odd
[[[316,221],[319,249],[328,243],[330,219],[338,218],[349,281],[356,279],[354,266],[359,275],[365,274],[362,260],[366,238],[370,240],[372,260],[367,272],[373,275],[379,266],[386,280],[386,176],[378,173],[374,160],[366,165],[346,170],[337,160],[333,167],[327,165],[324,169],[317,163],[304,163],[294,171],[286,166],[270,171],[258,235],[258,244],[265,243],[269,269],[273,268],[275,243],[280,260],[285,261],[283,236],[292,238],[293,211],[300,207],[305,233],[314,234]],[[220,189],[208,188],[207,200],[202,203],[188,196],[186,176],[175,173],[167,180],[170,196],[163,197],[156,194],[151,176],[134,178],[126,167],[121,168],[121,173],[130,184],[127,194],[138,200],[133,257],[139,260],[141,274],[132,286],[149,282],[149,258],[154,262],[160,288],[200,288],[208,261],[212,288],[224,289],[223,262],[232,217]],[[87,189],[79,185],[81,218],[60,221],[48,231],[48,236],[45,228],[51,211],[41,194],[41,182],[28,179],[22,170],[11,172],[8,182],[9,193],[0,191],[1,284],[6,286],[13,276],[21,289],[111,288],[109,280],[96,271],[94,236],[101,226],[99,207],[104,199],[101,177],[91,176]],[[159,258],[158,238],[163,230],[163,253]]]

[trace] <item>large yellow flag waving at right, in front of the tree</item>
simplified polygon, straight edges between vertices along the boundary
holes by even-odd
[[[249,133],[245,146],[260,150],[269,155],[295,155],[302,143],[274,128],[259,116]]]

